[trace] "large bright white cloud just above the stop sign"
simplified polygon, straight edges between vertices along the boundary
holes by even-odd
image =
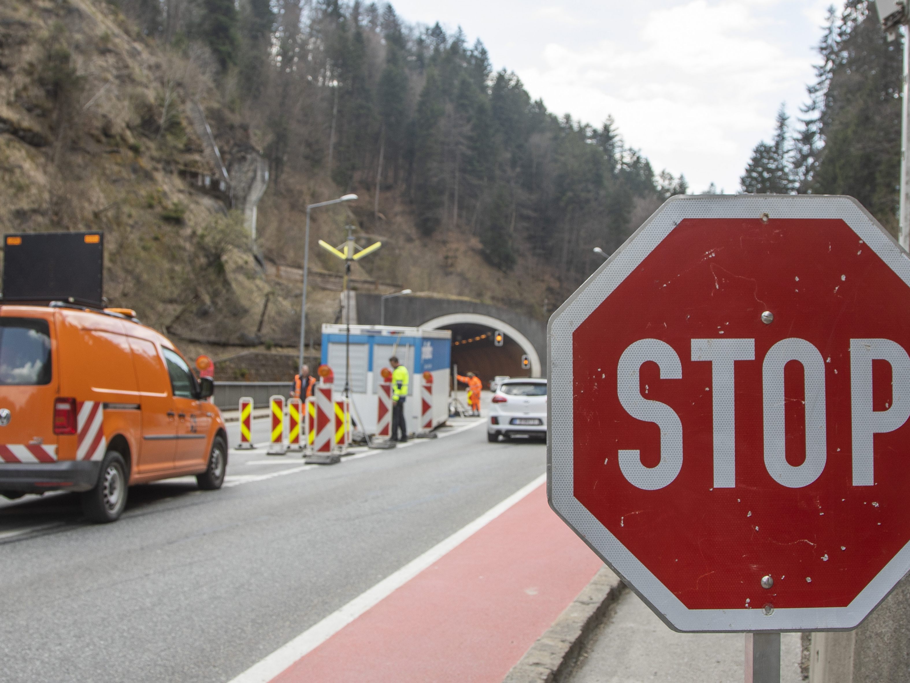
[[[693,0],[655,9],[637,40],[551,43],[518,73],[555,111],[595,124],[612,114],[656,170],[684,172],[694,189],[714,181],[732,191],[776,108],[786,99],[793,109],[812,76],[804,55],[775,40],[773,5]]]

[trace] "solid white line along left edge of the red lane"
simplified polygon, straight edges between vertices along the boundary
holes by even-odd
[[[414,576],[439,561],[450,550],[470,538],[471,535],[476,534],[484,526],[490,524],[491,521],[512,505],[515,505],[522,498],[540,487],[546,480],[547,475],[541,474],[531,484],[523,486],[500,504],[494,505],[483,515],[470,522],[470,524],[461,527],[444,541],[431,547],[420,557],[411,560],[397,572],[386,576],[376,586],[361,593],[347,605],[333,612],[315,626],[309,627],[288,644],[279,647],[275,652],[248,668],[237,678],[233,678],[230,683],[267,683],[267,681],[275,678],[298,659],[305,657],[309,652],[328,640],[329,637],[334,636],[342,628],[348,626],[350,622],[362,615],[370,607],[378,604],[380,600],[389,596],[400,586],[404,586]]]

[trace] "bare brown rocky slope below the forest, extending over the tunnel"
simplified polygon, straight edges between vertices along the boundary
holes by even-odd
[[[315,242],[341,242],[348,222],[384,242],[357,266],[356,288],[438,291],[539,317],[558,305],[546,262],[520,253],[507,274],[477,237],[424,237],[400,189],[377,215],[373,190],[319,174],[288,166],[267,183],[263,134],[218,78],[205,49],[165,49],[106,0],[5,0],[0,227],[105,230],[111,305],[190,353],[296,345],[306,204],[349,189],[359,202],[314,213],[310,339],[339,315],[340,263]]]

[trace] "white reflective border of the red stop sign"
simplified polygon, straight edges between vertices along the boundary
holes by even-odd
[[[867,617],[910,570],[908,543],[847,607],[777,608],[770,614],[761,607],[689,609],[572,494],[573,332],[683,219],[760,219],[765,214],[771,219],[844,220],[857,237],[910,287],[910,258],[853,198],[813,195],[676,196],[668,199],[553,313],[548,326],[550,433],[547,443],[547,496],[550,505],[604,562],[632,586],[664,623],[680,631],[851,629]]]

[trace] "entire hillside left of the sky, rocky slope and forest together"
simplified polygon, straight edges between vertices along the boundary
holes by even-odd
[[[0,175],[4,231],[104,229],[111,304],[194,352],[298,342],[311,202],[359,195],[313,214],[312,341],[339,315],[340,264],[315,242],[346,223],[384,243],[355,288],[542,319],[592,247],[685,191],[609,117],[532,101],[479,40],[337,0],[6,0]]]

